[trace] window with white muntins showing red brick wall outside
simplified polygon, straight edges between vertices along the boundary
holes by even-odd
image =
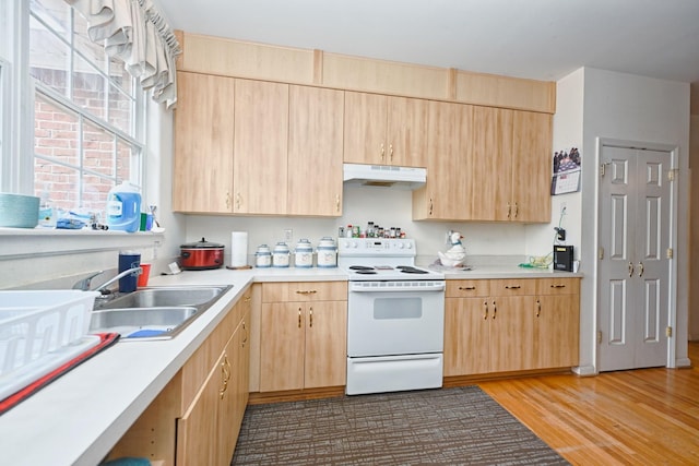
[[[64,0],[32,0],[28,24],[35,195],[102,213],[112,186],[142,184],[145,93]]]

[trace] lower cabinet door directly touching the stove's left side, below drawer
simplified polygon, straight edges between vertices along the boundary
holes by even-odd
[[[306,304],[304,387],[344,385],[347,358],[347,301]]]

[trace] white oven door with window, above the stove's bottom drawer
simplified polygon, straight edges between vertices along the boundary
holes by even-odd
[[[347,356],[441,353],[445,282],[351,282]]]

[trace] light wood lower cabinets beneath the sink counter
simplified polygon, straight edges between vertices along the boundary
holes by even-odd
[[[178,466],[230,464],[248,404],[250,300],[248,288],[108,458],[137,456]]]

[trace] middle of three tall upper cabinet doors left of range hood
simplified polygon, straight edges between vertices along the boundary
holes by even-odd
[[[288,84],[236,80],[233,212],[286,214]]]

